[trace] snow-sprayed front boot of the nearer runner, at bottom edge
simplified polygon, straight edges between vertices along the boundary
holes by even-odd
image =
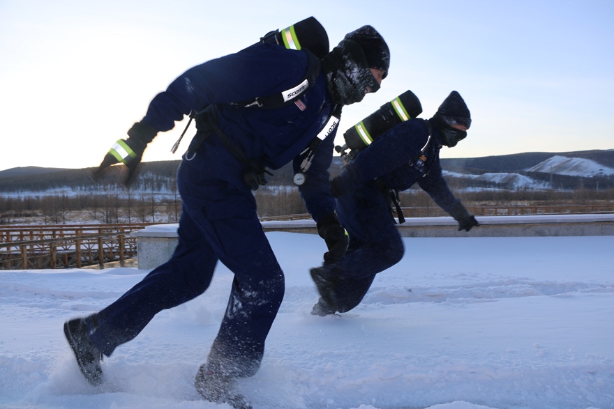
[[[244,396],[234,390],[235,385],[233,378],[211,373],[204,364],[194,380],[194,387],[206,401],[228,403],[234,409],[252,409]]]

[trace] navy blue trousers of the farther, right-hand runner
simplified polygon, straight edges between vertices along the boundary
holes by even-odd
[[[339,261],[329,265],[340,281],[336,285],[337,311],[356,307],[378,272],[395,265],[405,249],[396,229],[387,197],[375,183],[365,183],[337,199],[339,220],[350,245]]]

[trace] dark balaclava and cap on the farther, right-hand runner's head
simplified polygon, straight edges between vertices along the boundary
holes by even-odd
[[[471,126],[471,114],[465,100],[456,91],[442,102],[442,105],[433,115],[433,123],[439,128],[442,135],[442,145],[452,148],[467,137],[467,131],[452,128],[450,125],[463,125],[467,129]]]

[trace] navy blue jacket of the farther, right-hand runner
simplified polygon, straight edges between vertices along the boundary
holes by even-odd
[[[426,121],[414,119],[400,123],[377,137],[340,175],[344,190],[361,183],[377,183],[394,190],[407,190],[414,183],[427,192],[447,213],[459,203],[442,176],[439,153],[440,132],[431,126],[428,142]],[[426,145],[424,160],[421,149]]]

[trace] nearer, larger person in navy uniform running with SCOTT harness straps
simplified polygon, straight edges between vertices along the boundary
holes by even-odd
[[[103,355],[135,338],[159,311],[202,294],[220,261],[234,273],[234,281],[195,387],[209,401],[250,408],[236,392],[234,379],[259,369],[284,294],[283,272],[264,236],[252,190],[265,183],[266,168],[293,162],[306,177],[300,192],[320,236],[331,252],[343,254],[347,238],[334,215],[328,174],[336,129],[321,132],[338,122],[340,107],[377,91],[389,68],[389,49],[371,26],[348,33],[331,52],[326,38],[325,48],[310,78],[306,72],[313,71],[313,57],[308,52],[266,41],[197,65],[156,95],[128,139],[105,156],[100,171],[123,162],[131,176],[158,132],[199,112],[194,115],[197,134],[178,170],[182,213],[172,258],[105,309],[64,325],[90,383],[103,380]]]

